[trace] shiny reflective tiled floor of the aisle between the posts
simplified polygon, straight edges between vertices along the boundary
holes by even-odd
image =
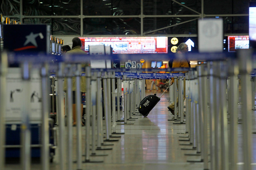
[[[150,92],[152,94],[154,92]],[[161,92],[158,92],[160,96]],[[149,92],[146,92],[148,95]],[[83,170],[203,170],[202,162],[188,162],[188,160],[201,160],[201,156],[187,156],[185,154],[196,153],[191,150],[191,145],[186,131],[185,124],[174,124],[168,121],[172,116],[167,110],[168,93],[164,94],[160,102],[152,109],[147,117],[141,115],[132,116],[129,125],[116,125],[116,132],[124,132],[122,135],[111,139],[118,139],[112,146],[102,148],[112,148],[112,150],[96,150],[96,155],[106,154],[106,156],[90,156],[90,161],[103,161],[102,163],[82,163]],[[85,154],[85,127],[82,127],[82,152]],[[74,133],[74,152],[76,151],[76,127]],[[239,133],[241,135],[241,133]],[[255,134],[256,135],[256,134]],[[253,139],[256,139],[254,136]],[[254,139],[254,141],[255,141]],[[182,145],[185,144],[185,145]],[[240,143],[241,148],[241,143]],[[254,146],[254,150],[255,146]],[[74,153],[73,159],[76,160]],[[241,158],[239,158],[241,161]],[[254,162],[256,158],[253,158]],[[83,156],[85,160],[85,156]],[[242,166],[239,167],[242,169]],[[253,166],[256,169],[256,166]],[[7,170],[20,169],[20,164],[6,164]],[[40,169],[40,164],[34,162],[31,169]],[[59,170],[58,150],[53,163],[50,164],[51,170]],[[76,163],[73,164],[76,169]]]

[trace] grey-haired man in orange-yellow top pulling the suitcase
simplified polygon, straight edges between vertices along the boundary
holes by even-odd
[[[188,53],[188,45],[186,45],[185,43],[180,43],[180,45],[176,49],[176,53],[178,53],[178,55],[176,56],[175,59],[173,59],[172,66],[170,65],[170,62],[169,62],[169,67],[170,68],[178,68],[178,67],[188,67],[188,68],[190,68],[190,61],[188,59],[186,59],[186,53]],[[173,71],[172,73],[175,73],[175,72]],[[173,83],[174,83],[174,78],[172,78],[172,81],[171,81],[170,85],[172,85]],[[186,86],[185,85],[186,84],[185,84],[185,79],[184,79],[183,100],[185,100],[185,98],[186,98],[186,94],[185,94],[185,89],[186,89],[185,87]],[[178,104],[178,98],[177,98],[177,104]],[[174,102],[171,103],[167,108],[174,115],[174,108],[175,108],[174,107]]]

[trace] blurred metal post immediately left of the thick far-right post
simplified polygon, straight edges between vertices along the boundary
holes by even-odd
[[[238,93],[236,78],[238,76],[238,66],[236,60],[230,60],[229,76],[230,76],[230,88],[229,88],[229,114],[230,114],[230,141],[229,143],[229,155],[230,155],[230,170],[237,170],[238,162],[238,131],[237,131],[237,114],[238,114]]]

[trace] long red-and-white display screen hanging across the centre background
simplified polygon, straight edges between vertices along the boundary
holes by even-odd
[[[89,52],[89,45],[111,45],[117,53],[168,53],[167,37],[79,37],[82,49]]]

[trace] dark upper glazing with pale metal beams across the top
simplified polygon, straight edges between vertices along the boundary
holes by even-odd
[[[3,16],[51,25],[52,35],[196,37],[198,19],[222,18],[226,35],[248,35],[250,0],[4,0]]]

